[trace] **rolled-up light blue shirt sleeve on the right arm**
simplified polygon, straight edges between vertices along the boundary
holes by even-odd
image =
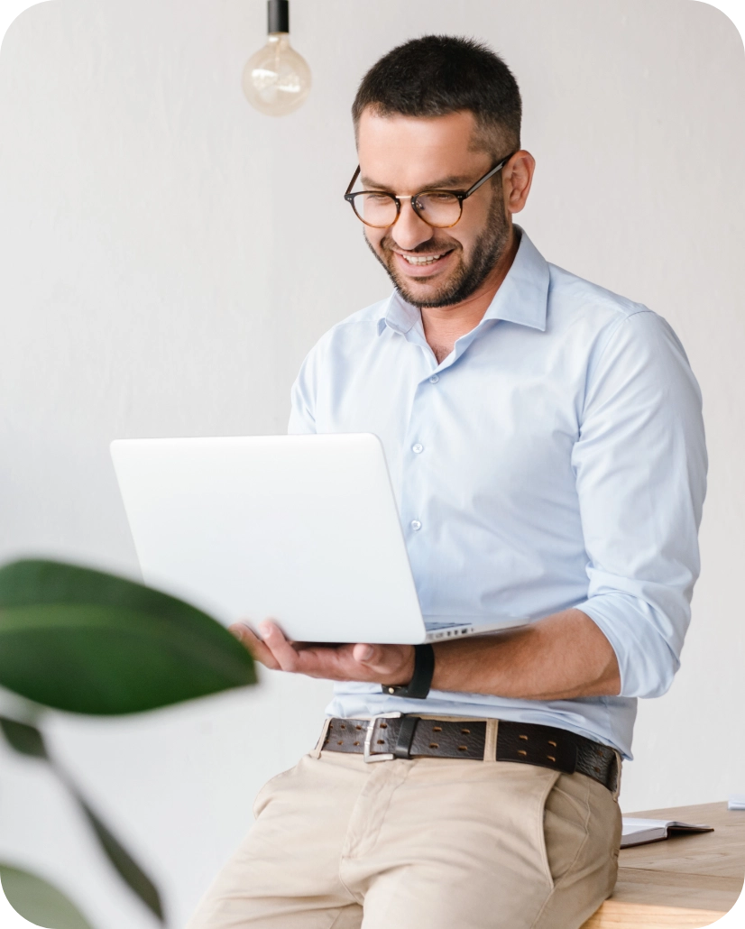
[[[690,622],[707,457],[699,386],[655,313],[622,321],[591,366],[572,465],[590,581],[577,608],[616,653],[620,696],[659,697]]]

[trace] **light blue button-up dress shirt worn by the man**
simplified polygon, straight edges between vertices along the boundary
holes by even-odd
[[[666,321],[548,264],[522,232],[440,364],[399,294],[335,325],[295,381],[289,431],[381,438],[425,615],[576,607],[621,669],[620,696],[577,700],[336,684],[328,713],[541,723],[631,757],[636,699],[680,664],[706,489],[699,386]]]

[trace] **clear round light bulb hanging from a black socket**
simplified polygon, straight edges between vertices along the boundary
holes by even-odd
[[[267,45],[246,62],[243,93],[256,110],[284,116],[310,91],[306,59],[290,47],[290,0],[268,0]]]

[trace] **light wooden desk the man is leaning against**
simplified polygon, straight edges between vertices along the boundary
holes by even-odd
[[[723,803],[629,815],[714,831],[622,848],[616,889],[582,929],[702,929],[724,919],[745,884],[745,810]]]

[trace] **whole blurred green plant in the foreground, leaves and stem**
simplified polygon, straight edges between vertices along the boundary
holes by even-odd
[[[17,561],[0,569],[0,686],[34,704],[123,715],[255,683],[246,649],[176,597],[57,561]],[[47,752],[39,728],[0,716],[0,731],[16,752],[50,765],[111,865],[164,922],[155,884]],[[45,929],[91,929],[57,888],[33,874],[0,863],[0,886],[8,902],[17,901],[14,907]]]

